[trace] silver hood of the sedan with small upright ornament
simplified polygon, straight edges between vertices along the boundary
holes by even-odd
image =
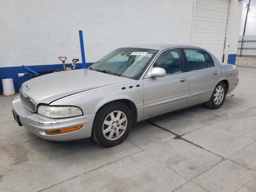
[[[28,80],[21,91],[32,98],[35,104],[46,103],[78,92],[134,81],[87,69],[55,72]]]

